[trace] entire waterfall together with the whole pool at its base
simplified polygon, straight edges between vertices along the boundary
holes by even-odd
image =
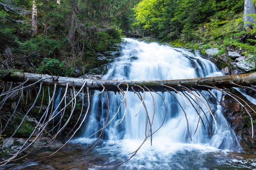
[[[183,78],[196,78],[207,76],[221,76],[222,73],[216,65],[200,57],[198,52],[194,54],[188,50],[171,48],[157,43],[145,43],[135,39],[124,38],[121,44],[120,57],[111,64],[108,73],[102,79],[113,80],[172,80]],[[124,89],[126,92],[126,89]],[[96,92],[97,93],[97,92]],[[172,92],[173,93],[173,92]],[[211,137],[210,127],[214,132],[215,123],[207,107],[200,102],[205,110],[209,123],[205,116],[198,123],[198,114],[190,103],[186,105],[184,99],[173,93],[184,107],[189,122],[189,130],[193,141],[187,131],[184,112],[171,94],[153,93],[155,102],[155,116],[152,146],[150,137],[140,148],[138,153],[121,166],[115,166],[129,159],[145,138],[146,111],[141,107],[141,100],[133,92],[128,92],[127,110],[124,116],[125,105],[121,105],[117,113],[122,94],[108,92],[109,118],[112,122],[104,130],[99,144],[89,153],[87,146],[92,144],[99,133],[93,133],[101,129],[107,117],[106,94],[92,95],[91,116],[85,127],[84,133],[73,139],[66,149],[59,151],[50,159],[43,161],[26,161],[8,165],[12,169],[140,169],[140,170],[180,170],[180,169],[256,169],[256,156],[243,153],[238,139],[222,114],[222,107],[208,93],[204,93],[211,102],[211,110],[217,122],[216,135]],[[222,93],[212,90],[212,93],[221,99]],[[141,93],[143,96],[144,94]],[[193,96],[191,96],[193,98]],[[164,105],[164,102],[166,105]],[[209,102],[208,101],[208,102]],[[149,117],[153,116],[153,99],[149,92],[145,93],[145,105]],[[205,101],[207,102],[207,101]],[[194,103],[196,106],[197,104]],[[137,114],[139,108],[139,113]],[[166,113],[167,111],[167,113]],[[117,114],[116,114],[117,113]],[[137,114],[137,116],[136,116]],[[115,116],[116,115],[116,116]],[[123,119],[124,120],[121,121]],[[121,122],[121,123],[120,123]],[[164,123],[163,123],[164,122]],[[120,124],[119,124],[120,123]],[[116,126],[119,124],[118,126]],[[116,127],[115,127],[116,126]],[[147,125],[147,133],[149,125]],[[51,151],[39,153],[49,155]]]

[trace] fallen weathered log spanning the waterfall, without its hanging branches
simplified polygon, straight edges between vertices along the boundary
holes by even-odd
[[[247,86],[256,85],[256,72],[248,73],[248,74],[240,74],[240,75],[231,75],[231,76],[217,76],[217,77],[205,77],[205,78],[192,78],[192,79],[181,79],[181,80],[158,80],[158,81],[135,81],[135,80],[90,80],[90,79],[82,79],[82,78],[69,78],[69,77],[61,77],[61,76],[49,76],[43,74],[31,74],[31,73],[19,73],[15,72],[5,74],[4,76],[0,76],[0,80],[2,81],[13,81],[13,82],[24,82],[28,80],[27,83],[35,83],[40,81],[43,85],[51,85],[54,86],[56,84],[58,87],[66,87],[67,83],[69,83],[69,87],[75,87],[76,89],[80,89],[84,82],[86,84],[84,87],[88,87],[92,90],[102,90],[102,85],[108,90],[113,92],[119,92],[119,88],[123,88],[126,90],[127,84],[129,85],[128,91],[132,91],[133,89],[140,89],[138,86],[147,87],[148,89],[153,89],[157,92],[165,92],[165,89],[169,91],[173,91],[166,86],[172,87],[177,91],[182,89],[182,86],[187,87],[189,89],[211,89],[211,87],[205,87],[204,85],[217,87],[220,89],[231,88],[231,87],[239,87],[239,86]],[[38,82],[39,83],[39,82]],[[126,84],[125,84],[126,83]],[[137,85],[137,86],[136,86]],[[166,85],[166,86],[164,86]],[[202,86],[203,85],[203,86]],[[145,88],[146,91],[146,88]]]

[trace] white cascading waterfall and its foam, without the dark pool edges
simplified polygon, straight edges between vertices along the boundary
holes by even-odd
[[[198,53],[193,54],[183,49],[160,46],[157,43],[147,44],[128,38],[124,40],[126,42],[122,45],[121,57],[117,58],[116,61],[112,63],[111,69],[108,70],[108,73],[103,79],[171,80],[222,75],[213,63],[202,59]],[[126,89],[124,89],[124,91],[126,91]],[[211,98],[208,93],[203,93]],[[221,92],[212,91],[212,93],[220,100],[222,96]],[[113,92],[109,92],[108,94],[110,101],[110,116],[108,120],[110,120],[117,112],[123,95],[115,95]],[[153,135],[153,145],[150,146],[150,139],[148,139],[135,157],[124,164],[123,167],[119,167],[120,169],[170,169],[171,167],[186,169],[189,167],[183,165],[182,162],[189,159],[187,154],[190,154],[193,159],[193,155],[198,157],[200,154],[203,155],[209,152],[240,150],[236,135],[229,127],[227,120],[221,112],[222,107],[214,99],[211,98],[210,106],[217,122],[218,130],[216,135],[210,137],[209,124],[202,111],[201,116],[206,130],[202,122],[199,122],[198,130],[195,135],[193,135],[198,122],[198,114],[187,99],[189,107],[186,106],[181,96],[173,93],[181,102],[182,107],[184,107],[187,113],[189,129],[193,139],[193,142],[191,142],[187,131],[184,112],[170,94],[167,92],[159,94],[163,96],[168,110],[164,125]],[[143,96],[142,93],[141,95]],[[154,94],[154,100],[155,117],[153,120],[153,132],[161,126],[166,111],[164,102],[159,95]],[[144,101],[152,120],[153,102],[149,92],[146,92]],[[85,128],[85,132],[81,138],[73,142],[81,142],[82,139],[92,135],[95,131],[103,127],[107,115],[106,104],[107,100],[105,94],[102,96],[94,95],[92,99],[91,116]],[[194,105],[197,108],[197,104],[194,103]],[[128,154],[135,151],[143,141],[146,124],[146,112],[143,106],[138,115],[135,116],[140,106],[141,101],[137,95],[128,92],[128,109],[124,122],[115,127],[124,115],[125,107],[123,103],[120,112],[106,127],[101,137],[103,139],[101,145],[95,148],[97,152],[104,153],[105,156],[108,155],[107,157],[109,157],[109,159],[104,162],[105,165],[125,161],[130,157]],[[207,107],[202,102],[200,102],[200,106],[206,112],[211,129],[214,132],[216,128],[211,114],[207,111]],[[93,137],[97,137],[98,135],[99,133]],[[92,139],[87,139],[83,142],[90,143]],[[97,168],[97,166],[95,168]]]

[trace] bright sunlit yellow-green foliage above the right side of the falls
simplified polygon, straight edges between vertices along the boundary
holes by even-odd
[[[211,21],[211,27],[243,11],[243,0],[142,0],[135,7],[134,25],[149,29],[160,39],[195,39],[194,29]]]

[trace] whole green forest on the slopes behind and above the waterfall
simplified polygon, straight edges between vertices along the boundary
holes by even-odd
[[[144,32],[145,37],[203,53],[216,47],[219,56],[229,47],[242,48],[245,55],[256,52],[255,27],[249,32],[243,27],[244,0],[0,3],[2,69],[81,76],[99,66],[95,56],[121,41],[122,31]],[[241,41],[244,35],[247,38]]]

